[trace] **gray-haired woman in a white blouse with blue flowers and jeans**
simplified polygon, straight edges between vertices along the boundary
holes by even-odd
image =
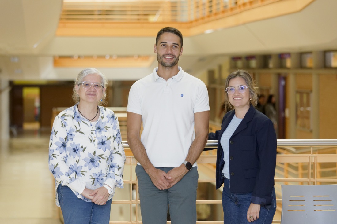
[[[109,223],[115,188],[123,188],[125,153],[115,113],[105,102],[105,75],[82,70],[75,105],[57,115],[49,143],[49,170],[65,224]]]

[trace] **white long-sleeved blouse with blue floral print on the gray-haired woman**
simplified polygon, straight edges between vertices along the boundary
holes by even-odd
[[[97,189],[103,184],[123,188],[125,153],[119,122],[112,110],[99,106],[96,122],[84,118],[77,104],[55,118],[49,142],[49,170],[55,178],[55,190],[68,186],[78,198],[85,187]],[[56,193],[56,204],[59,206]]]

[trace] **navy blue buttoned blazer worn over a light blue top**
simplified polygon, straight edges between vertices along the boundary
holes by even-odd
[[[216,189],[224,182],[221,136],[231,122],[235,110],[225,114],[221,130],[209,133],[209,140],[218,140],[216,158]],[[268,205],[276,166],[276,134],[273,122],[252,105],[229,140],[229,175],[233,193],[252,192],[251,202]],[[205,149],[207,150],[207,149]]]

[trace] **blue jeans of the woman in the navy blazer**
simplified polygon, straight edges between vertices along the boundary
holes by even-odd
[[[275,188],[272,190],[272,204],[267,207],[262,205],[259,219],[250,224],[271,224],[276,211]],[[250,205],[252,192],[231,193],[229,180],[225,178],[222,191],[222,209],[224,224],[249,224],[247,221],[247,211]]]

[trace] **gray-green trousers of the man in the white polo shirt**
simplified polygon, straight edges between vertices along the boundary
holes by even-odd
[[[164,172],[173,168],[156,167]],[[152,183],[143,166],[136,166],[143,224],[166,224],[168,206],[172,224],[196,223],[197,167],[192,169],[173,187],[159,190]]]

